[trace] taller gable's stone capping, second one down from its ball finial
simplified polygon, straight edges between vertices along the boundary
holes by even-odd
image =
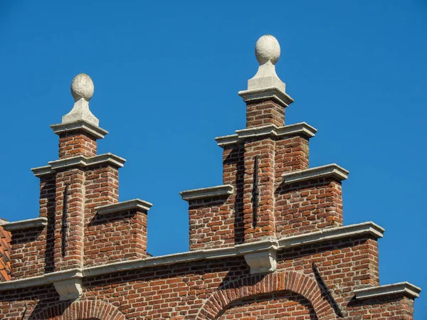
[[[228,146],[244,142],[245,139],[262,136],[286,137],[294,134],[302,134],[307,138],[315,137],[317,129],[306,122],[290,124],[283,127],[277,127],[275,124],[268,124],[262,127],[236,130],[236,134],[223,137],[216,137],[218,146]]]

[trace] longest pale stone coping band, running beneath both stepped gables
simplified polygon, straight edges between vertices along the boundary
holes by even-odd
[[[371,235],[374,238],[382,238],[383,233],[384,229],[373,222],[359,223],[356,225],[347,225],[345,227],[320,230],[315,233],[295,235],[292,237],[281,238],[279,240],[269,239],[245,243],[243,245],[236,245],[235,247],[195,250],[174,253],[172,255],[162,255],[159,257],[147,257],[141,260],[114,262],[108,265],[84,268],[83,270],[75,269],[68,270],[66,272],[52,272],[44,274],[43,276],[0,282],[0,292],[9,289],[19,289],[48,284],[58,280],[68,279],[68,277],[79,277],[78,274],[80,273],[82,274],[81,277],[95,277],[111,272],[137,270],[147,267],[160,267],[162,265],[174,265],[182,262],[188,263],[199,260],[221,259],[223,257],[235,257],[253,252],[265,252],[268,250],[283,250],[297,245],[320,243],[331,239],[336,240],[357,235]],[[70,275],[68,275],[68,272]]]

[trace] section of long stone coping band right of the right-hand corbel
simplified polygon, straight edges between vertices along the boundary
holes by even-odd
[[[382,238],[384,232],[384,228],[381,228],[376,223],[369,221],[366,223],[357,223],[355,225],[346,225],[344,227],[324,229],[314,233],[303,233],[302,235],[292,235],[290,237],[281,238],[278,240],[278,246],[280,249],[285,249],[289,247],[298,247],[300,245],[325,242],[328,240],[348,238],[367,233],[374,236],[374,238]]]

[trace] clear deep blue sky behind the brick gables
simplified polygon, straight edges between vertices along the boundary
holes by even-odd
[[[350,171],[344,223],[386,229],[381,284],[427,291],[423,0],[1,1],[0,216],[38,216],[30,168],[58,158],[49,125],[73,106],[73,77],[88,73],[91,110],[110,132],[99,151],[127,159],[120,200],[154,203],[149,252],[188,250],[179,191],[221,184],[214,137],[245,127],[237,92],[257,70],[253,46],[265,33],[280,42],[278,75],[295,99],[287,124],[319,129],[310,166]]]

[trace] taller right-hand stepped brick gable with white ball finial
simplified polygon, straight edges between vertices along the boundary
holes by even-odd
[[[280,45],[270,35],[255,44],[258,72],[248,89],[246,129],[218,137],[223,186],[181,193],[189,201],[190,250],[274,240],[342,225],[341,181],[336,164],[309,169],[309,139],[317,130],[285,125],[293,102],[275,72]]]

